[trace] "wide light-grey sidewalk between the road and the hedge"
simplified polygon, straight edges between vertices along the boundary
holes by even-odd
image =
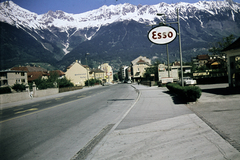
[[[140,99],[87,159],[240,159],[240,152],[165,88],[132,85]]]

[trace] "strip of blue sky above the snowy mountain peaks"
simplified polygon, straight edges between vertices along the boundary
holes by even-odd
[[[4,2],[5,0],[0,0]],[[83,13],[93,9],[98,9],[103,5],[117,5],[123,3],[130,3],[133,5],[153,5],[161,2],[178,3],[188,2],[196,3],[199,0],[12,0],[14,3],[22,8],[37,14],[47,13],[49,10],[62,10],[67,13]],[[202,0],[204,1],[204,0]],[[218,0],[220,1],[220,0]],[[222,1],[222,0],[221,0]],[[233,0],[240,3],[240,0]]]

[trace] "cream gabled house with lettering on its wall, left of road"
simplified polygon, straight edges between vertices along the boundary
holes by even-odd
[[[67,67],[65,72],[66,78],[76,86],[85,86],[85,81],[90,79],[89,67],[85,67],[76,60],[76,62]]]

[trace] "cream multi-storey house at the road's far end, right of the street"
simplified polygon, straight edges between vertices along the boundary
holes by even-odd
[[[147,57],[139,56],[131,61],[131,78],[133,81],[141,79],[146,71],[146,68],[151,66],[151,60]]]

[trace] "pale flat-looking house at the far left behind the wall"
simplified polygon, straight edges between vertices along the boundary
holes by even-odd
[[[14,84],[28,84],[27,72],[17,70],[0,71],[0,86],[13,86]]]

